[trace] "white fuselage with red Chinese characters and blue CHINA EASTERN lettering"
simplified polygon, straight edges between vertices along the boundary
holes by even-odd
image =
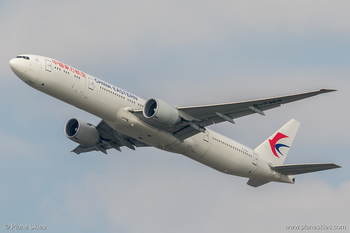
[[[147,125],[128,109],[141,110],[146,102],[130,92],[37,55],[14,58],[10,66],[31,87],[105,120],[112,128],[150,146],[185,155],[223,173],[269,181],[294,183],[293,176],[271,170],[265,157],[212,130],[184,141]]]

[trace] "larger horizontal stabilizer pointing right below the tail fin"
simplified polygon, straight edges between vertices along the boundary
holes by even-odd
[[[335,163],[307,163],[307,164],[288,164],[288,165],[271,165],[272,170],[277,171],[281,174],[297,175],[315,171],[323,171],[334,168],[341,168]]]

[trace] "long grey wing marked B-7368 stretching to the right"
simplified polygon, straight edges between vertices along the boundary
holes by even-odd
[[[293,101],[332,91],[336,90],[321,89],[318,91],[293,94],[289,96],[280,96],[227,104],[176,107],[179,110],[182,120],[178,125],[174,125],[172,127],[161,126],[146,119],[142,114],[142,110],[132,110],[132,113],[137,115],[140,120],[144,121],[148,125],[169,133],[173,133],[180,140],[185,140],[188,137],[196,135],[200,132],[204,132],[205,127],[214,123],[216,124],[223,121],[235,123],[233,119],[254,113],[265,115],[264,111],[279,107],[282,104],[287,104]]]

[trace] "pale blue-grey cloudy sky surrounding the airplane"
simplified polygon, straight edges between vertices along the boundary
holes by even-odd
[[[282,232],[348,224],[349,10],[337,0],[0,1],[0,229]],[[293,118],[301,125],[285,164],[342,168],[253,188],[155,148],[70,153],[77,144],[64,135],[66,121],[100,119],[23,83],[8,64],[20,54],[57,59],[173,106],[336,89],[208,128],[255,148]]]

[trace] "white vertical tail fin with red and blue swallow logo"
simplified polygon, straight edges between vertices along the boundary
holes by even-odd
[[[297,120],[292,119],[288,121],[284,126],[255,148],[255,152],[264,156],[268,160],[271,160],[276,165],[283,164],[299,125],[300,122]]]

